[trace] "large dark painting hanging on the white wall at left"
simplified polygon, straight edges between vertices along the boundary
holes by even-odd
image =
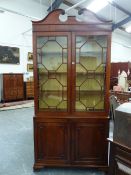
[[[0,64],[20,64],[19,48],[0,46]]]

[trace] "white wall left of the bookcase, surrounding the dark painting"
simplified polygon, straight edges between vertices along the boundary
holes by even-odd
[[[20,64],[0,64],[0,73],[27,72],[27,54],[32,52],[32,35],[23,35],[22,32],[32,28],[29,19],[8,12],[0,14],[0,45],[18,47],[20,49]],[[4,15],[4,18],[3,18]]]

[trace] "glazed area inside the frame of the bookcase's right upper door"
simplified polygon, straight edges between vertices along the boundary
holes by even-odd
[[[106,36],[76,37],[76,111],[104,110]]]

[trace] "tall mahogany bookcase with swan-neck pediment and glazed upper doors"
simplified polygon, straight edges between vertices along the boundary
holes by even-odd
[[[34,170],[107,168],[111,23],[91,12],[33,22]]]

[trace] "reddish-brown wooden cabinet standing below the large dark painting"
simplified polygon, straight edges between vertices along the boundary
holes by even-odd
[[[24,99],[23,74],[1,74],[1,101]]]

